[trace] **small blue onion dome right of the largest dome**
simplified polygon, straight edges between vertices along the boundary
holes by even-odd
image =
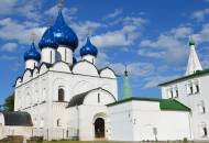
[[[90,38],[88,36],[85,46],[80,48],[80,56],[84,55],[97,56],[97,54],[98,54],[97,47],[91,44]]]

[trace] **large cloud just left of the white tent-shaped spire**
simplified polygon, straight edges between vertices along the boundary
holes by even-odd
[[[161,58],[164,63],[182,64],[188,55],[187,44],[191,28],[179,26],[158,35],[156,40],[144,40],[141,42],[139,55]]]

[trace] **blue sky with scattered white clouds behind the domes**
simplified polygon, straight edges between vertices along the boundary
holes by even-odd
[[[24,72],[23,54],[32,34],[38,44],[56,15],[56,0],[0,0],[0,103]],[[185,75],[189,47],[209,67],[209,0],[64,0],[63,13],[76,32],[79,48],[91,33],[97,65],[120,75],[128,65],[133,96],[161,98],[160,82]],[[38,47],[37,47],[38,50]]]

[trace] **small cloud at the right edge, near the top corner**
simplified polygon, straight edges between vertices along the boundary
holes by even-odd
[[[197,21],[205,21],[206,15],[209,14],[209,9],[198,10],[191,14],[191,18]]]

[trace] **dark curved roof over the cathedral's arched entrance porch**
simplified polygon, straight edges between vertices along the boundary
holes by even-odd
[[[70,101],[69,101],[67,108],[82,105],[82,103],[84,103],[84,100],[85,100],[85,98],[86,98],[86,96],[87,96],[89,92],[91,92],[91,91],[94,91],[94,90],[98,90],[98,89],[101,89],[101,90],[105,90],[105,91],[109,92],[108,90],[102,89],[101,87],[99,87],[99,88],[95,88],[95,89],[88,90],[88,91],[86,91],[86,92],[76,95],[76,96],[74,96],[74,97],[70,99]],[[110,94],[110,92],[109,92],[109,94]],[[114,96],[113,96],[112,94],[110,94],[110,95],[114,98]],[[116,100],[116,98],[114,98],[114,100]]]

